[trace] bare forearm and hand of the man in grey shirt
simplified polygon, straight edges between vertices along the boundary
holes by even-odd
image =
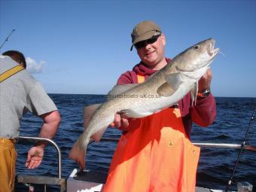
[[[46,114],[41,114],[39,117],[44,120],[44,123],[41,126],[39,137],[53,139],[53,136],[59,127],[59,111],[51,111]],[[44,157],[44,148],[46,145],[46,142],[37,142],[35,146],[29,149],[25,164],[28,169],[35,169],[41,164],[41,161]]]

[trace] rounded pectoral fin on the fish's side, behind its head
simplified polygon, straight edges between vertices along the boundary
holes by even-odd
[[[157,93],[160,96],[171,96],[175,93],[175,90],[178,90],[178,87],[181,84],[180,73],[173,73],[166,75],[166,83],[162,84],[158,89]]]

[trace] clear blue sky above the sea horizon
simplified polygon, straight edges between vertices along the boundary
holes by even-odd
[[[160,25],[171,58],[215,38],[212,93],[256,96],[256,1],[0,0],[0,43],[16,29],[0,52],[22,51],[47,93],[105,94],[139,62],[130,33],[142,20]]]

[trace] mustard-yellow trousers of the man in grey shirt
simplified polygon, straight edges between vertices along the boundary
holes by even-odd
[[[14,141],[0,138],[0,192],[14,191],[16,157]]]

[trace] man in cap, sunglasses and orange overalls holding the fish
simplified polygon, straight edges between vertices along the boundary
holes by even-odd
[[[133,71],[123,73],[117,84],[142,83],[170,60],[165,57],[165,36],[156,23],[139,23],[132,38],[142,61]],[[112,126],[123,130],[123,135],[104,191],[194,191],[200,149],[190,143],[190,130],[192,122],[209,126],[215,120],[211,80],[208,69],[199,81],[193,106],[187,93],[177,104],[148,117],[131,119],[115,114]],[[181,153],[184,149],[187,152]]]

